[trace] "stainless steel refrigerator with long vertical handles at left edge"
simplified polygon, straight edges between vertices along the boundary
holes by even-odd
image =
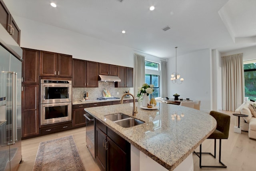
[[[0,28],[0,171],[16,171],[21,155],[21,61]],[[12,42],[12,40],[10,40]],[[15,44],[14,44],[15,45]],[[19,48],[19,47],[18,47]],[[22,50],[21,50],[22,51]],[[12,52],[12,53],[10,53]],[[14,54],[14,55],[13,55]],[[22,55],[22,54],[21,54]]]

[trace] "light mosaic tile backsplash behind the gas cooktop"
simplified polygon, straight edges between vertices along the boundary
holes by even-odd
[[[72,101],[78,101],[83,99],[84,91],[88,92],[89,99],[95,100],[98,97],[103,97],[103,89],[106,88],[111,96],[122,97],[125,91],[133,93],[133,88],[116,88],[114,82],[99,82],[99,87],[97,88],[72,88]],[[117,94],[118,93],[118,94]],[[134,95],[136,96],[136,95]]]

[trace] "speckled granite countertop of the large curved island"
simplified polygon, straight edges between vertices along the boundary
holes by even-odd
[[[136,102],[136,106],[141,104]],[[134,117],[145,123],[130,128],[123,128],[104,116],[118,112],[132,116],[133,103],[89,107],[85,111],[172,171],[214,131],[216,120],[196,109],[166,103],[158,105],[159,109],[155,110],[138,107]],[[172,115],[177,112],[184,116],[173,120]]]

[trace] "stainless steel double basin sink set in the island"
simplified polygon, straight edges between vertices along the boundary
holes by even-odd
[[[145,123],[144,121],[140,121],[138,119],[125,115],[124,113],[114,113],[114,114],[106,115],[105,117],[110,121],[113,121],[114,123],[125,128],[133,127],[135,125],[140,125],[142,123]]]

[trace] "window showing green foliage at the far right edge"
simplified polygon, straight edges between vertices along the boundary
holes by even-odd
[[[244,64],[244,95],[256,100],[256,63]]]

